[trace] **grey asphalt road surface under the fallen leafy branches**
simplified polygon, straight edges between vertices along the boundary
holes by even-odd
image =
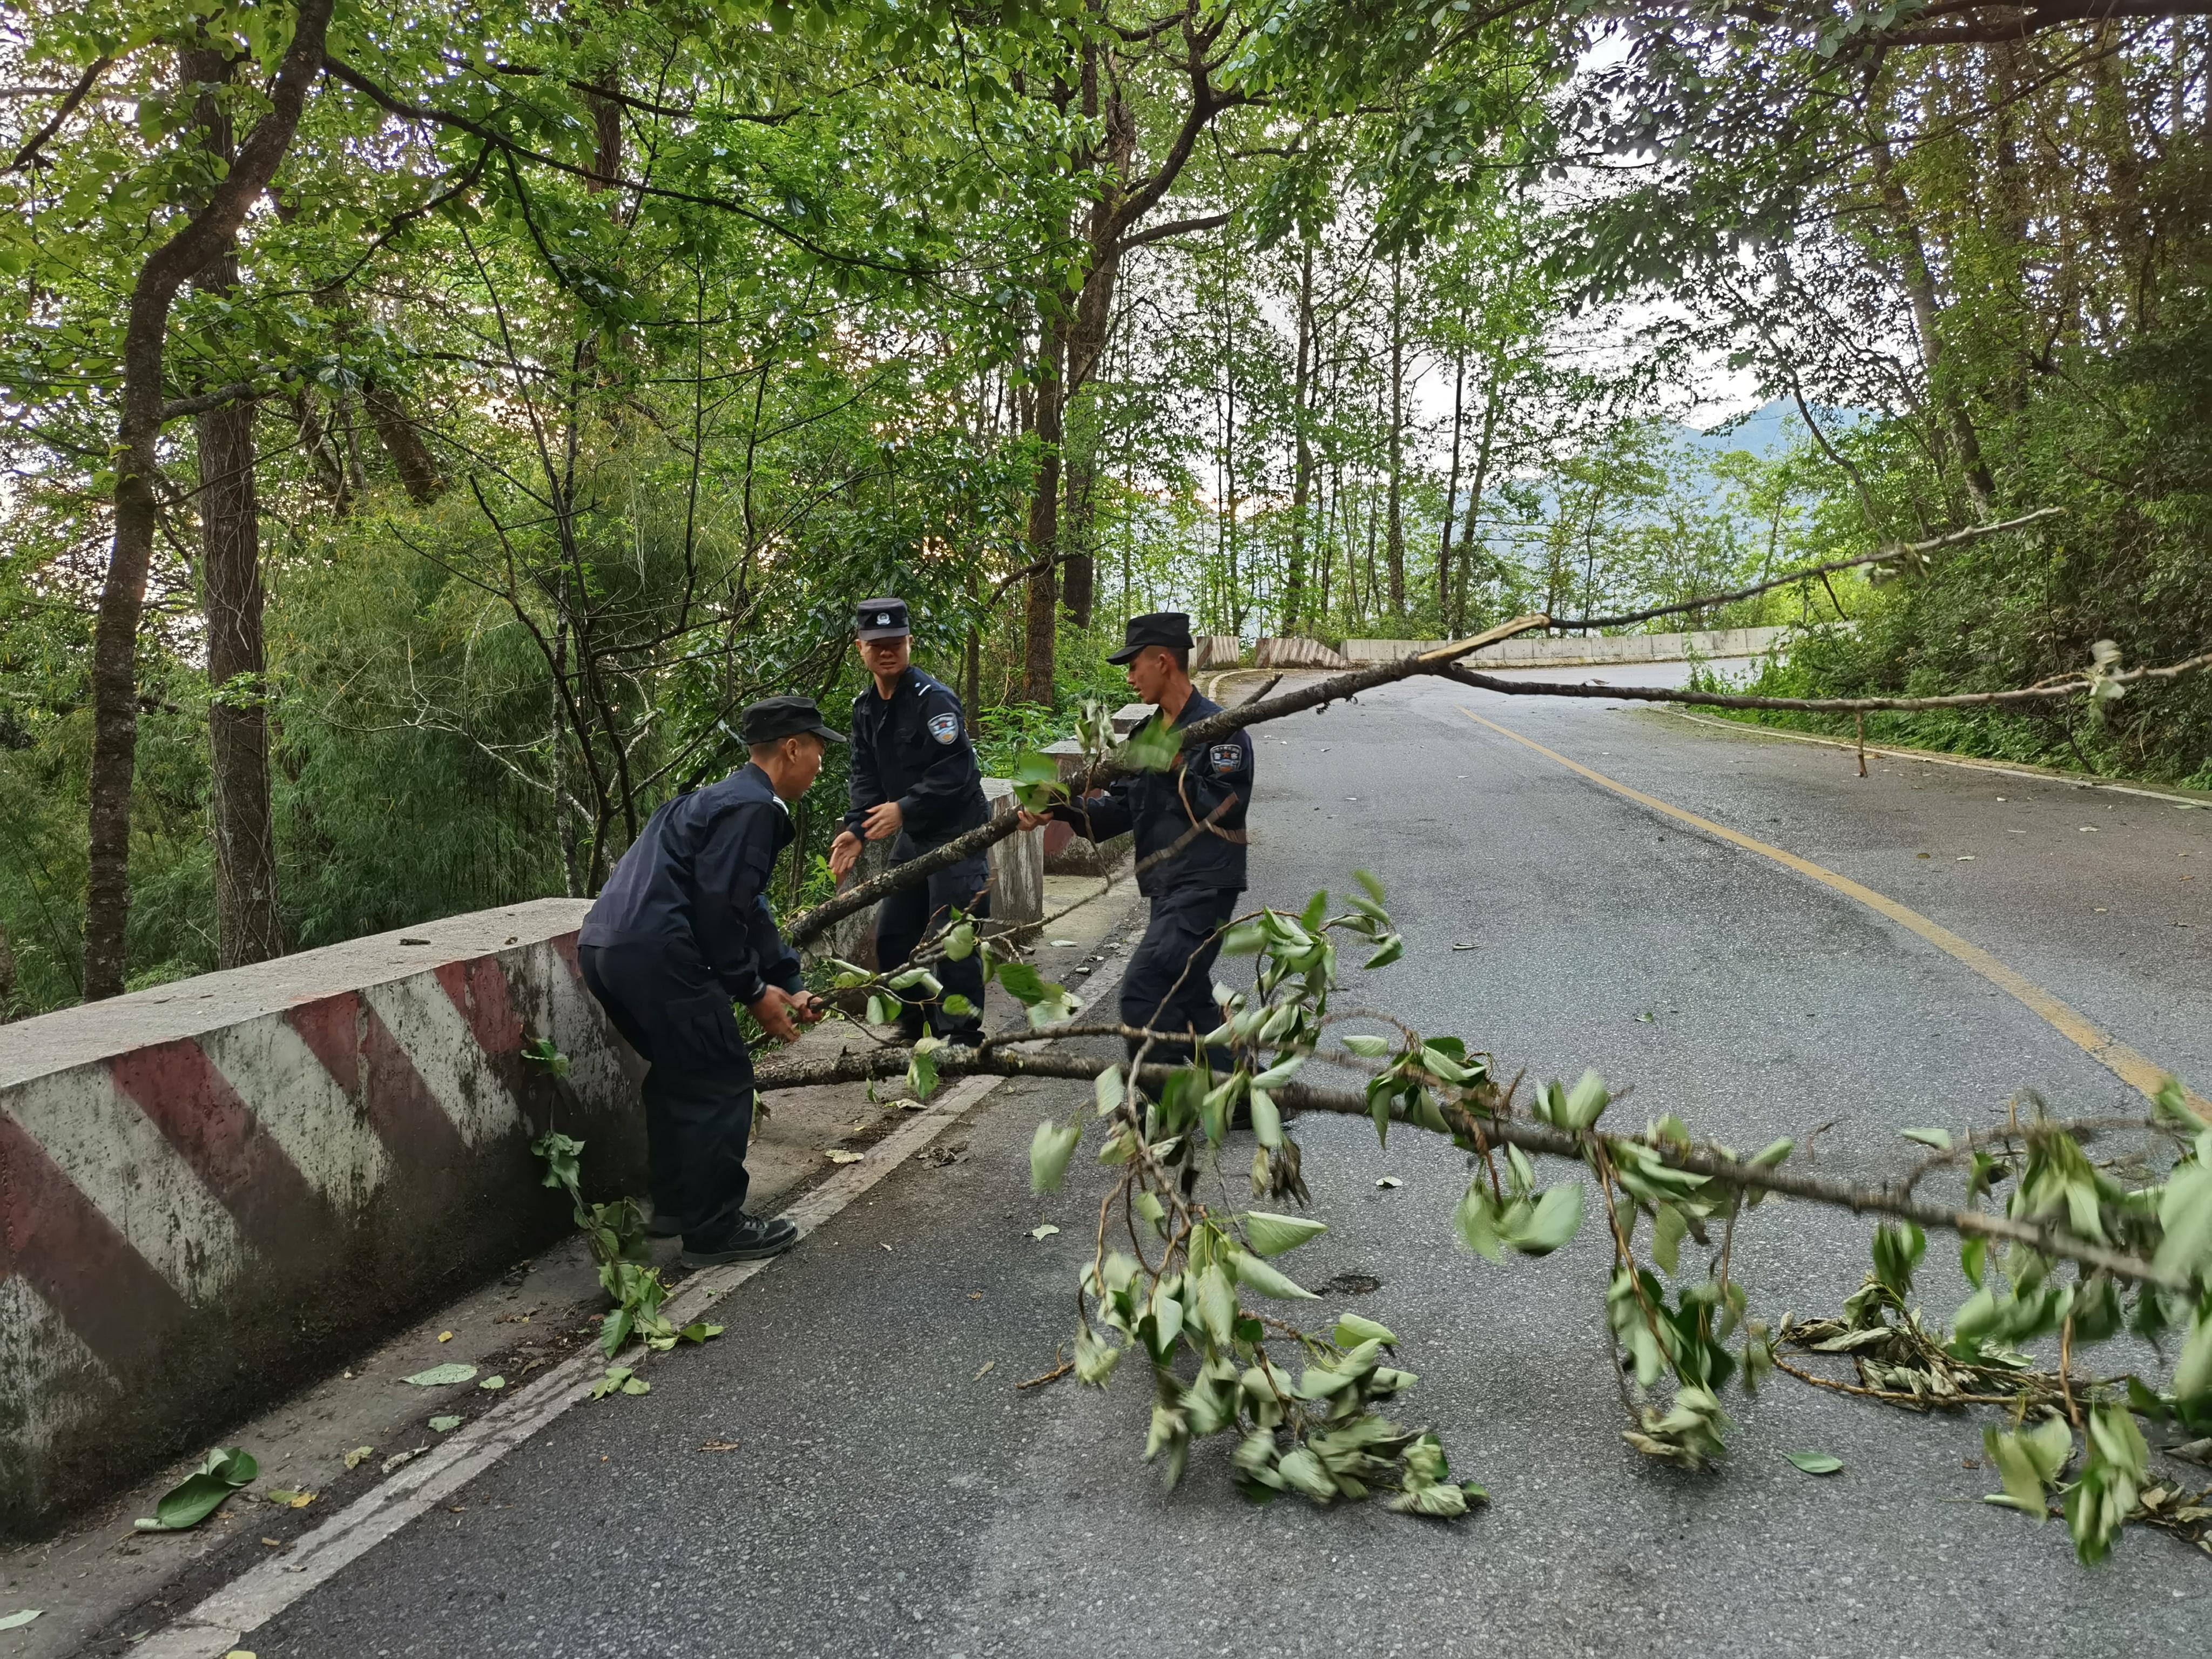
[[[1356,865],[1389,885],[1407,956],[1354,998],[1535,1075],[1597,1066],[1635,1084],[1615,1108],[1630,1121],[1677,1110],[1741,1146],[1832,1124],[1814,1155],[1832,1175],[1893,1168],[1898,1128],[1986,1124],[2020,1088],[2064,1110],[2139,1104],[1893,920],[1462,706],[1913,907],[2212,1082],[2212,812],[1940,765],[1860,781],[1836,750],[1455,688],[1387,690],[1261,743],[1254,896],[1296,905]],[[1285,1265],[1316,1287],[1378,1281],[1327,1307],[1396,1327],[1422,1374],[1405,1416],[1493,1502],[1453,1526],[1261,1511],[1228,1486],[1225,1449],[1166,1493],[1139,1462],[1135,1367],[1104,1394],[1011,1387],[1071,1329],[1102,1190],[1077,1157],[1064,1194],[1029,1197],[1029,1135],[1066,1097],[991,1095],[953,1135],[964,1161],[889,1177],[745,1285],[723,1340],[655,1365],[650,1396],[571,1411],[257,1630],[254,1652],[2205,1650],[2212,1562],[2141,1533],[2077,1568],[2062,1528],[1980,1504],[1995,1480],[1971,1467],[1971,1420],[1783,1378],[1730,1398],[1728,1469],[1646,1462],[1617,1438],[1601,1230],[1486,1265],[1449,1230],[1462,1161],[1416,1133],[1378,1150],[1358,1121],[1298,1126],[1332,1232]],[[1042,1221],[1064,1232],[1037,1241]],[[1865,1239],[1770,1206],[1736,1272],[1770,1316],[1832,1310]],[[1966,1290],[1940,1241],[1922,1281],[1936,1314]],[[1845,1471],[1814,1480],[1785,1451]]]

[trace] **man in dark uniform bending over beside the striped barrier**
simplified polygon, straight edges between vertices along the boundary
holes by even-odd
[[[810,697],[748,708],[752,759],[653,814],[577,933],[584,984],[646,1073],[655,1232],[684,1234],[684,1265],[752,1261],[799,1239],[783,1217],[745,1212],[752,1060],[732,1000],[792,1042],[823,1009],[768,914],[768,874],[792,838],[796,801],[845,739]],[[668,1223],[675,1221],[675,1228]]]

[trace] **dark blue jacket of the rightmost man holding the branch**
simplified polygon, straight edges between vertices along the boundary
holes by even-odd
[[[1221,703],[1190,692],[1175,726],[1197,726],[1208,714],[1219,712]],[[1137,730],[1150,730],[1157,719],[1155,710]],[[1252,805],[1252,739],[1243,732],[1230,732],[1199,745],[1183,739],[1183,763],[1172,772],[1137,772],[1115,779],[1099,794],[1053,807],[1053,816],[1073,823],[1077,834],[1091,836],[1091,841],[1135,830],[1137,863],[1141,865],[1155,852],[1172,847],[1190,834],[1192,825],[1206,823],[1206,816],[1223,801],[1230,805],[1212,821],[1212,827],[1199,830],[1175,858],[1164,858],[1137,876],[1137,891],[1146,898],[1186,887],[1241,894],[1245,887],[1245,807]]]

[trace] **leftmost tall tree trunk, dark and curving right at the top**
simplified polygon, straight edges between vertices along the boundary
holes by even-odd
[[[93,768],[84,883],[84,995],[117,995],[128,973],[131,783],[137,774],[137,630],[159,500],[161,361],[177,290],[230,246],[276,177],[323,69],[334,0],[301,0],[270,108],[208,201],[139,265],[124,325],[122,409],[115,422],[115,542],[93,626]]]

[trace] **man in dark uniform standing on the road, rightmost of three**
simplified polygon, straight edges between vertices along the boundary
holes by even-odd
[[[1106,661],[1124,664],[1130,688],[1157,710],[1137,732],[1159,721],[1168,730],[1194,726],[1221,712],[1190,684],[1190,617],[1181,611],[1130,617],[1126,644]],[[1152,1044],[1152,1060],[1188,1060],[1192,1040],[1221,1024],[1214,958],[1245,887],[1250,803],[1252,739],[1230,732],[1212,743],[1186,739],[1168,772],[1137,772],[1051,814],[1022,814],[1024,830],[1051,816],[1091,841],[1137,832],[1137,891],[1152,900],[1152,920],[1121,975],[1121,1024],[1183,1033],[1179,1044]],[[1146,858],[1183,836],[1190,843],[1181,852],[1144,869]],[[1137,1053],[1135,1042],[1128,1048]]]

